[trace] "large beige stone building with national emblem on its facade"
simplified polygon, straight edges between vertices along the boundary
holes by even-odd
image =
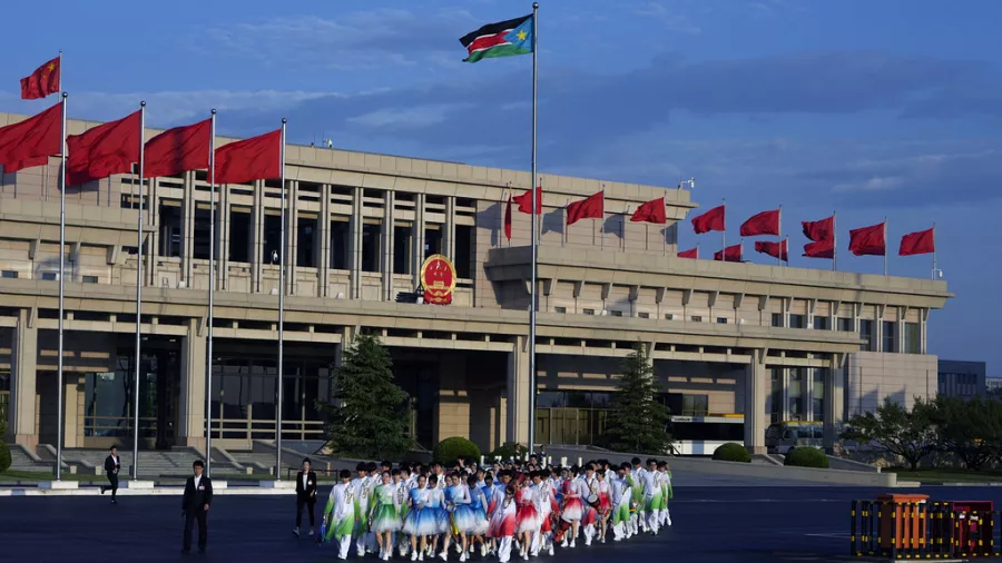
[[[0,125],[22,118],[0,113]],[[69,132],[94,125],[71,121]],[[61,407],[57,174],[53,158],[0,184],[9,434],[28,447],[55,444],[63,408],[67,447],[130,436],[139,269],[145,446],[204,445],[214,197],[205,172],[150,182],[143,264],[136,179],[68,189]],[[485,448],[524,443],[530,416],[540,443],[591,443],[603,432],[621,358],[638,345],[677,415],[744,421],[743,432],[731,429],[755,451],[770,422],[824,421],[831,442],[839,421],[885,396],[935,394],[926,326],[950,297],[945,283],[679,259],[679,221],[696,208],[689,191],[543,175],[539,405],[530,413],[530,221],[515,213],[507,240],[501,205],[509,187],[528,188],[527,172],[289,146],[286,175],[287,439],[321,436],[315,402],[328,397],[331,369],[360,332],[391,347],[425,446],[451,435]],[[605,219],[564,228],[564,205],[600,189]],[[268,180],[215,192],[212,432],[214,444],[232,448],[274,437],[279,190]],[[626,220],[625,210],[661,196],[667,226]],[[452,305],[399,303],[436,253],[458,270]]]

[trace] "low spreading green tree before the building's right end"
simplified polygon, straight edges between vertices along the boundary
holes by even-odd
[[[888,397],[876,412],[852,417],[842,438],[900,456],[915,471],[939,448],[935,409],[934,403],[922,397],[915,397],[911,411]]]

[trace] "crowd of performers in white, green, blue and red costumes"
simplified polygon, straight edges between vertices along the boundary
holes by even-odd
[[[528,560],[553,555],[557,545],[574,547],[582,535],[584,545],[605,543],[609,530],[617,542],[657,534],[671,525],[671,471],[657,460],[570,468],[460,461],[448,473],[440,463],[361,463],[354,476],[340,472],[317,541],[335,543],[341,560],[354,540],[358,556],[382,561],[394,551],[411,561],[448,561],[454,546],[460,562],[479,552],[505,563],[513,546]]]

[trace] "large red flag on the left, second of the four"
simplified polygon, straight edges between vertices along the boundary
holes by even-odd
[[[88,181],[125,174],[139,160],[139,111],[117,121],[108,121],[82,135],[66,138],[66,182],[80,186]]]

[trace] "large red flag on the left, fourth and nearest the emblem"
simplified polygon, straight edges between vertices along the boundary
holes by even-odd
[[[216,149],[216,182],[246,184],[282,177],[282,129]]]

